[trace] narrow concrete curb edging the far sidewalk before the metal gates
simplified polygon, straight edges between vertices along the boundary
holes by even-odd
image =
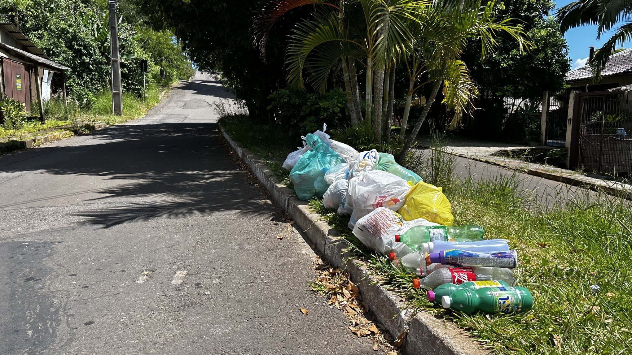
[[[427,146],[418,146],[418,148],[426,148],[432,149]],[[569,171],[566,169],[561,169],[558,167],[545,167],[542,164],[535,164],[530,162],[523,162],[521,160],[502,158],[502,157],[494,157],[494,156],[484,156],[480,157],[478,155],[468,155],[468,154],[459,154],[455,152],[446,153],[456,155],[457,157],[476,160],[478,162],[483,162],[487,164],[496,165],[499,167],[504,167],[505,169],[515,170],[524,172],[525,174],[538,176],[539,178],[545,178],[553,181],[558,181],[559,183],[565,183],[572,186],[578,186],[581,188],[587,188],[588,190],[604,192],[608,195],[616,196],[619,198],[627,198],[628,200],[632,200],[632,185],[617,183],[616,181],[608,181],[603,179],[590,178],[590,176],[585,176],[573,171]],[[568,172],[566,172],[568,171]]]

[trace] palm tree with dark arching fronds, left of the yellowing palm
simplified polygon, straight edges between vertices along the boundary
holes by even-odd
[[[379,142],[382,140],[384,73],[398,52],[404,51],[409,40],[404,20],[414,19],[416,11],[428,1],[344,0],[336,5],[318,0],[274,0],[270,7],[275,11],[267,11],[255,20],[255,38],[258,37],[260,46],[265,45],[269,28],[290,9],[305,4],[326,4],[335,8],[336,11],[331,12],[315,11],[312,20],[296,24],[287,51],[288,81],[295,87],[304,88],[307,73],[312,87],[322,92],[332,68],[342,61],[351,110],[352,107],[359,108],[359,100],[354,99],[358,91],[353,85],[354,69],[357,64],[363,65],[366,75],[365,119],[373,122],[375,140]],[[345,68],[347,63],[350,70]]]

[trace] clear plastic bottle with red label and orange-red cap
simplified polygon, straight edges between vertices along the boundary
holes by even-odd
[[[486,267],[447,267],[439,268],[430,273],[430,275],[419,280],[419,285],[425,289],[433,290],[442,284],[457,284],[468,281],[491,281],[500,280],[513,285],[513,272],[508,268]]]

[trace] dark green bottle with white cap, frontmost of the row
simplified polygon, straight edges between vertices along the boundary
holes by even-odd
[[[525,287],[483,287],[460,289],[441,298],[443,308],[474,313],[522,313],[533,307],[533,296]]]

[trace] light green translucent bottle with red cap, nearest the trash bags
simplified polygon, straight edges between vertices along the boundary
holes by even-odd
[[[404,234],[396,234],[395,241],[421,250],[423,243],[431,241],[482,241],[485,231],[473,224],[464,226],[415,226]]]

